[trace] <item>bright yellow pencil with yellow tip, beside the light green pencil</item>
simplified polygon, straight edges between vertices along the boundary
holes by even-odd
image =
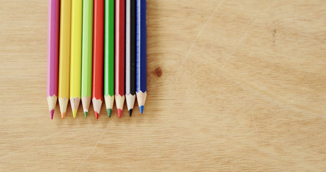
[[[82,82],[82,1],[71,1],[70,105],[76,118]]]

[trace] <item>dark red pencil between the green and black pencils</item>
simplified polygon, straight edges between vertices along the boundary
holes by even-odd
[[[115,0],[115,104],[121,118],[125,103],[125,0]]]

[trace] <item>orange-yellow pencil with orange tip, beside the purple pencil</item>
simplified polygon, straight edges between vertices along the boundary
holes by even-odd
[[[59,105],[65,118],[69,101],[71,0],[61,0],[59,44]]]

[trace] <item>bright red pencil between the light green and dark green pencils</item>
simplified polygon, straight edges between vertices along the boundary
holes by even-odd
[[[95,117],[98,119],[103,102],[104,0],[94,0],[93,16],[92,102]]]

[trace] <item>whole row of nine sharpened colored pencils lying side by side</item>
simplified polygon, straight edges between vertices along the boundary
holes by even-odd
[[[103,102],[121,117],[146,100],[146,0],[49,0],[47,99],[51,119],[57,98],[85,118],[92,100],[96,119]],[[125,97],[126,96],[126,97]]]

